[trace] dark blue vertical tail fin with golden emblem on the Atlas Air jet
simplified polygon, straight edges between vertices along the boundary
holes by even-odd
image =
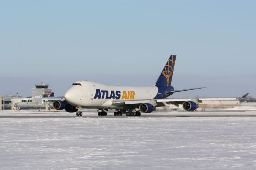
[[[171,55],[160,76],[158,77],[155,86],[169,87],[172,83],[172,74],[174,70],[174,64],[176,55]]]

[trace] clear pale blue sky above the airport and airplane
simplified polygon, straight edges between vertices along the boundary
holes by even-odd
[[[0,1],[0,94],[48,81],[153,85],[176,54],[173,97],[256,97],[256,2]],[[22,82],[22,86],[21,86]],[[18,87],[17,87],[18,86]],[[24,94],[22,94],[24,93]]]

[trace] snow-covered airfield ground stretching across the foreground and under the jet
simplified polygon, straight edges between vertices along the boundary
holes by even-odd
[[[0,111],[0,169],[256,169],[256,106],[73,115]]]

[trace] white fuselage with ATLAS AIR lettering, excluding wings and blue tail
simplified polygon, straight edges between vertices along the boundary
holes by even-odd
[[[70,104],[88,109],[122,109],[113,100],[154,99],[158,87],[108,86],[91,81],[76,81],[65,93]]]

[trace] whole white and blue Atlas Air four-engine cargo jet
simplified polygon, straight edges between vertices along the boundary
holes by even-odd
[[[66,91],[64,98],[53,102],[56,110],[65,109],[82,116],[81,109],[98,109],[99,116],[106,116],[110,109],[115,116],[140,116],[152,113],[156,107],[166,104],[178,106],[183,103],[186,111],[194,111],[201,102],[198,99],[166,99],[173,93],[194,89],[174,90],[171,86],[176,55],[171,55],[153,87],[108,86],[91,81],[76,81]]]

